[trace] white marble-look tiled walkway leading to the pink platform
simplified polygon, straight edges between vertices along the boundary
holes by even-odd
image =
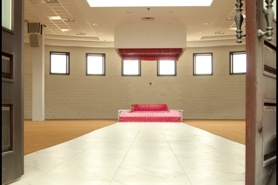
[[[12,185],[244,185],[245,145],[184,123],[125,123],[24,156]]]

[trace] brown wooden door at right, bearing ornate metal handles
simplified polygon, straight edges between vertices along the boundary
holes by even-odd
[[[264,0],[246,0],[246,185],[276,184],[276,19],[272,40]],[[275,12],[276,13],[276,12]],[[271,22],[271,21],[270,21]]]

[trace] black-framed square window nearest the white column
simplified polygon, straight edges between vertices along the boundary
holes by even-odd
[[[69,75],[69,52],[50,51],[50,74]]]

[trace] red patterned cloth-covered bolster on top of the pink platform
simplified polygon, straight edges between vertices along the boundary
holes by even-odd
[[[169,111],[166,104],[131,104],[131,111]]]

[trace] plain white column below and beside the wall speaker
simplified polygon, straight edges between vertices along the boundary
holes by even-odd
[[[44,25],[40,47],[33,47],[33,121],[44,121]]]

